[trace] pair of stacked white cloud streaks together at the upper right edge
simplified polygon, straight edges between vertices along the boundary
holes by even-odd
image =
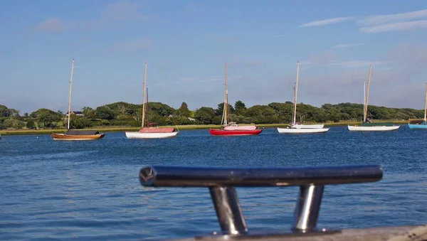
[[[427,9],[401,14],[369,16],[362,18],[357,23],[363,26],[359,28],[359,31],[363,33],[383,33],[427,28],[427,20],[415,20],[417,18],[427,18]]]

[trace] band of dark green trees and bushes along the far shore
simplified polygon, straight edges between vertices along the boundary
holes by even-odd
[[[200,107],[194,111],[189,110],[185,102],[181,107],[174,109],[161,102],[148,103],[148,122],[155,122],[160,126],[188,126],[197,129],[197,126],[219,125],[223,113],[223,103],[216,109]],[[275,124],[286,125],[291,122],[292,102],[272,102],[268,105],[246,105],[238,100],[234,105],[229,105],[230,121],[238,124],[258,124],[260,126]],[[360,122],[362,119],[363,105],[353,103],[340,103],[337,105],[325,104],[314,107],[300,103],[297,105],[297,121],[301,123],[325,123],[339,125],[344,123]],[[142,105],[127,102],[115,102],[95,109],[83,107],[80,111],[70,113],[70,128],[120,128],[138,129],[141,126]],[[423,109],[389,108],[370,105],[368,118],[373,120],[391,120],[394,122],[407,122],[408,119],[421,119],[424,117]],[[38,109],[31,114],[21,115],[19,110],[9,109],[0,105],[0,130],[49,130],[65,129],[67,123],[66,113],[51,109]],[[209,127],[208,127],[209,128]]]

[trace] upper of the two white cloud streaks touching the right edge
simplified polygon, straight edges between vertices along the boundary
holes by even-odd
[[[416,18],[426,18],[427,17],[427,9],[420,11],[411,11],[401,14],[387,14],[387,15],[379,15],[379,16],[371,16],[364,18],[362,20],[357,21],[362,25],[378,25],[382,23],[389,23],[394,21],[407,21]]]

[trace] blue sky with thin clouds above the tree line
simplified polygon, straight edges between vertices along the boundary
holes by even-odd
[[[425,0],[0,1],[0,105],[31,113],[142,102],[424,108]]]

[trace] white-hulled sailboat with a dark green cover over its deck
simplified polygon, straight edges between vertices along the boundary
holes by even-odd
[[[369,77],[368,77],[368,89],[364,91],[364,107],[363,107],[363,122],[359,126],[348,125],[349,131],[351,132],[385,132],[394,131],[399,129],[399,125],[394,125],[393,122],[371,122],[367,119],[368,113],[368,100],[369,100],[369,87],[371,86],[371,74],[372,74],[372,63],[369,64]],[[364,84],[364,88],[365,88]],[[366,98],[365,98],[366,94]]]

